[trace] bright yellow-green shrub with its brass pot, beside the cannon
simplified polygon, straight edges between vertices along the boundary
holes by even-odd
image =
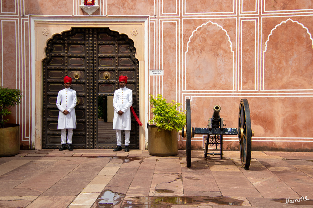
[[[174,156],[178,152],[177,132],[186,124],[186,116],[178,108],[180,103],[167,102],[158,94],[150,95],[153,118],[148,123],[148,150],[154,156]],[[150,124],[150,125],[149,125]]]

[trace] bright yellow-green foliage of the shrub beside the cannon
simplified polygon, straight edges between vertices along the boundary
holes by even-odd
[[[159,127],[159,131],[161,131],[161,129],[170,131],[175,129],[179,131],[186,125],[185,112],[178,110],[178,107],[182,104],[174,100],[167,103],[167,99],[162,98],[160,94],[158,94],[156,98],[150,95],[149,101],[153,114],[153,118],[149,123]]]

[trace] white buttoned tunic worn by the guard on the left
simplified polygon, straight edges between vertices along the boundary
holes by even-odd
[[[59,108],[58,129],[76,129],[76,91],[70,88],[60,90],[57,97],[57,107]],[[69,113],[64,115],[63,111]]]

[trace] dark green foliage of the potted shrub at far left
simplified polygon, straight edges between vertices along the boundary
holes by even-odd
[[[3,116],[7,116],[12,113],[8,110],[8,108],[13,108],[15,105],[20,104],[21,98],[21,90],[0,87],[0,128],[3,128],[4,123],[9,120],[4,120]]]

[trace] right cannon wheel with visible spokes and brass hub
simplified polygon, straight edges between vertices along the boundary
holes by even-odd
[[[241,99],[239,106],[238,137],[241,165],[248,170],[251,161],[251,120],[249,103]]]

